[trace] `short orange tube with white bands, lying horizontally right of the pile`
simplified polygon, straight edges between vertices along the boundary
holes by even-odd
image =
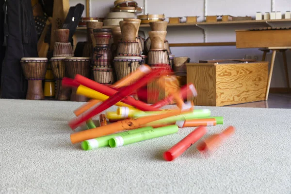
[[[193,119],[186,121],[177,121],[178,127],[195,127],[195,126],[215,126],[216,119]]]

